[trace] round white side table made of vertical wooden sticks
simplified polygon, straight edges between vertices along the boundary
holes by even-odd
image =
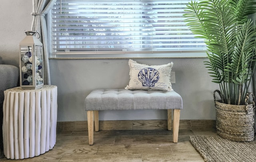
[[[4,91],[3,142],[8,159],[39,156],[56,143],[57,86]]]

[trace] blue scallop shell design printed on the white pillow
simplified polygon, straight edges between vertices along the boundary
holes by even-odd
[[[154,87],[159,80],[159,72],[154,68],[142,68],[138,74],[142,86]]]

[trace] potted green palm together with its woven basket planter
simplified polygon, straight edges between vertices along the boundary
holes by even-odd
[[[249,18],[254,5],[256,0],[199,0],[184,14],[192,33],[205,40],[206,68],[220,86],[214,91],[217,134],[233,141],[254,139],[254,96],[248,93],[256,68],[256,25]]]

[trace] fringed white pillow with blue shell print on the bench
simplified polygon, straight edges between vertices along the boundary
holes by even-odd
[[[173,62],[150,66],[130,59],[128,64],[130,66],[130,82],[126,86],[126,90],[173,90],[170,82]]]

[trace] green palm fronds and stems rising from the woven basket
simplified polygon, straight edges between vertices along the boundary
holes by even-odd
[[[239,105],[255,69],[256,0],[199,0],[186,8],[186,23],[208,48],[205,62],[212,82],[220,85],[224,102]]]

